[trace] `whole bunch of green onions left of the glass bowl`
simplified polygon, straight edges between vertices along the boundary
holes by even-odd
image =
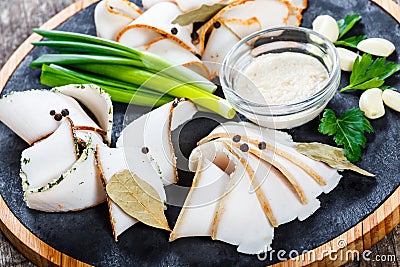
[[[62,53],[42,55],[31,63],[33,68],[42,67],[45,85],[94,83],[118,102],[159,106],[174,97],[188,98],[223,117],[235,115],[226,100],[212,94],[215,84],[157,55],[84,34],[35,32],[51,40],[33,43],[35,46]]]

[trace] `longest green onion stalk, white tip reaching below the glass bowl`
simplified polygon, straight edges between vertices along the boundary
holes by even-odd
[[[102,62],[102,64],[93,64],[98,62]],[[140,64],[140,62],[132,59],[80,54],[48,54],[43,55],[33,61],[31,66],[39,67],[49,64],[69,65],[85,72],[102,75],[113,80],[136,85],[136,88],[142,86],[142,88],[169,94],[174,97],[189,98],[194,103],[221,114],[224,117],[234,116],[234,110],[232,107],[225,100],[219,98],[218,96],[199,90],[193,84],[185,84],[181,81],[154,74],[142,68],[132,68],[129,65],[143,67],[137,66]],[[76,74],[74,75],[77,76]],[[88,77],[81,78],[85,79],[86,81],[91,81],[102,88],[107,86],[107,83],[104,83],[105,81],[102,81],[101,77],[97,77],[95,80],[88,79]],[[115,87],[115,83],[112,80],[110,81],[110,79],[107,79],[108,85]],[[123,88],[123,85],[121,87]],[[105,87],[104,90],[106,90]],[[125,100],[124,102],[126,103],[129,100]],[[135,103],[137,102],[135,101]]]

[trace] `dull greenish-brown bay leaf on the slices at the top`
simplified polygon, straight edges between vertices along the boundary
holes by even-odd
[[[174,21],[172,21],[172,24],[186,26],[195,22],[206,22],[226,6],[227,4],[221,3],[216,3],[213,5],[203,4],[198,9],[177,16]]]

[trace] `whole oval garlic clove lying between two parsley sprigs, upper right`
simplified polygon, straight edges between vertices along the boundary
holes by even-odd
[[[359,42],[357,49],[374,56],[388,57],[396,48],[392,42],[386,39],[370,38]]]

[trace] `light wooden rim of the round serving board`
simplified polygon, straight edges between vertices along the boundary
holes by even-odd
[[[80,10],[89,6],[95,1],[80,1],[77,2],[67,9],[60,12],[57,16],[52,18],[46,24],[42,26],[45,29],[53,29],[60,23],[73,16]],[[387,10],[396,20],[400,21],[399,7],[392,1],[374,1],[381,5]],[[0,71],[0,91],[6,85],[8,79],[13,74],[16,67],[24,59],[24,57],[31,51],[32,47],[30,42],[39,40],[40,38],[36,35],[30,36],[21,46],[16,50],[10,60],[4,65]],[[344,234],[338,236],[332,241],[323,244],[316,248],[314,252],[310,254],[316,255],[316,257],[310,257],[306,255],[304,261],[290,261],[287,263],[279,263],[274,266],[304,266],[304,265],[315,265],[316,261],[312,258],[323,259],[328,265],[340,265],[343,262],[335,261],[331,262],[324,255],[324,251],[338,249],[339,254],[349,249],[357,249],[363,251],[369,249],[373,244],[377,243],[382,239],[388,232],[390,232],[399,222],[399,197],[400,189],[398,188],[373,214],[368,216],[362,222],[358,223],[353,228],[349,229]],[[40,266],[49,265],[60,265],[60,266],[88,266],[82,262],[79,262],[57,250],[43,243],[35,235],[33,235],[21,222],[14,216],[10,211],[3,198],[0,198],[0,229],[5,235],[13,242],[13,244],[24,253],[30,260]],[[347,246],[339,249],[339,246],[345,241]],[[326,254],[326,253],[325,253]]]

